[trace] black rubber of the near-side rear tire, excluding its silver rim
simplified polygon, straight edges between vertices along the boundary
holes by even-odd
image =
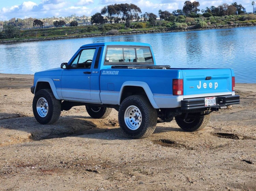
[[[131,106],[136,106],[141,112],[141,124],[136,130],[131,130],[125,123],[125,111]],[[156,129],[157,111],[145,96],[132,95],[122,101],[118,111],[118,120],[121,130],[128,137],[142,139],[150,136]]]

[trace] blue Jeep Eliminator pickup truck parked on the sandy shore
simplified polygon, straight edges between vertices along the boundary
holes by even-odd
[[[240,103],[234,90],[232,69],[156,65],[151,46],[137,42],[83,45],[60,68],[36,72],[31,87],[39,123],[54,123],[73,106],[86,106],[95,119],[114,108],[120,128],[134,139],[174,118],[184,131],[201,130],[211,112]]]

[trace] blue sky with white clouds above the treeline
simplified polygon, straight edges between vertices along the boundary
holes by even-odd
[[[190,0],[193,2],[193,0]],[[218,6],[223,3],[237,2],[242,4],[247,12],[252,12],[252,0],[198,0],[199,9]],[[185,0],[0,0],[0,20],[11,18],[45,18],[66,17],[72,14],[77,16],[91,16],[109,4],[133,3],[141,8],[142,14],[152,12],[158,16],[158,10],[172,12],[182,9]],[[255,4],[256,6],[256,4]]]

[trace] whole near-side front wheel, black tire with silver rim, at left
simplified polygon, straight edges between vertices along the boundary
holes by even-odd
[[[35,93],[32,107],[39,123],[52,124],[60,117],[61,100],[56,99],[50,89],[42,89]]]

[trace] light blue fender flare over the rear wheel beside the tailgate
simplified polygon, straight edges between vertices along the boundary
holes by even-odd
[[[159,109],[159,107],[156,104],[156,101],[154,100],[153,93],[151,92],[151,89],[149,88],[148,84],[146,82],[139,82],[139,81],[127,81],[124,82],[123,85],[121,86],[119,97],[118,97],[118,105],[121,104],[121,95],[123,93],[123,89],[125,86],[137,86],[137,87],[142,87],[144,91],[146,92],[146,95],[151,103],[151,105],[155,109]]]

